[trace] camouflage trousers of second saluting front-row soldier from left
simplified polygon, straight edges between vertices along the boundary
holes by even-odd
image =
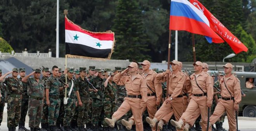
[[[43,100],[29,98],[28,101],[28,126],[30,128],[39,127],[43,113]]]

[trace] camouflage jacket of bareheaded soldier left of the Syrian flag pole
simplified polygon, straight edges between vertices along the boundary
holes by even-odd
[[[60,87],[59,78],[50,76],[46,82],[46,89],[49,89],[49,96],[59,96],[59,87]]]

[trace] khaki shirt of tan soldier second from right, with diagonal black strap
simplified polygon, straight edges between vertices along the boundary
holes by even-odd
[[[190,81],[192,85],[192,93],[193,94],[203,94],[204,92],[207,93],[207,103],[212,103],[213,101],[213,83],[212,78],[209,76],[206,72],[201,72],[196,77],[197,84],[200,86],[200,88],[204,91],[202,92],[201,89],[197,86],[195,81],[196,74],[192,74],[190,76]]]

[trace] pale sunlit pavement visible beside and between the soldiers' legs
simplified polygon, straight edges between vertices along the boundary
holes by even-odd
[[[7,103],[5,103],[5,109],[3,110],[3,122],[1,123],[0,131],[8,131],[7,128]],[[28,115],[26,116],[25,127],[28,128]],[[223,128],[228,129],[228,119],[227,116],[225,118],[225,122],[223,123]],[[238,117],[238,129],[240,131],[256,131],[256,118],[246,118],[246,117]],[[18,131],[18,127],[16,128]]]

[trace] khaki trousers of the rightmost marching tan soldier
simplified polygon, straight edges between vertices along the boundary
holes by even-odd
[[[235,109],[233,100],[225,101],[223,99],[219,99],[219,102],[215,107],[213,114],[210,117],[210,123],[216,123],[216,121],[219,120],[219,118],[223,115],[223,113],[225,113],[225,111],[227,111],[229,131],[236,131],[237,123],[235,119]]]

